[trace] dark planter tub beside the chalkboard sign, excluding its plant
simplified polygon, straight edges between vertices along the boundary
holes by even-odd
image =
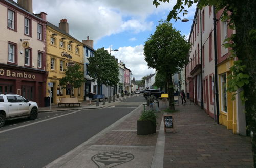
[[[137,121],[137,135],[156,133],[156,126],[152,121]]]

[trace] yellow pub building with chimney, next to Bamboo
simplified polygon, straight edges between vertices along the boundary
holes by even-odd
[[[69,24],[67,19],[61,19],[59,27],[47,23],[46,25],[47,57],[46,65],[48,71],[46,95],[51,96],[51,103],[57,104],[63,97],[77,97],[83,100],[83,84],[80,88],[62,88],[59,80],[65,77],[65,69],[69,65],[77,63],[83,72],[83,43],[69,35]]]

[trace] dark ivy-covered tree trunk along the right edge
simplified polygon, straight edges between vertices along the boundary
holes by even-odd
[[[248,73],[249,84],[243,86],[245,101],[246,120],[248,129],[253,132],[252,152],[254,167],[256,167],[256,1],[234,1],[237,6],[235,15],[232,16],[236,26],[236,36],[233,39],[242,65],[245,65],[245,73]],[[254,30],[254,31],[252,31]]]

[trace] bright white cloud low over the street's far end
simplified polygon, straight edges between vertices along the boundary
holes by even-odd
[[[144,60],[143,49],[144,45],[142,44],[135,47],[120,47],[118,52],[111,52],[111,54],[115,55],[119,62],[121,60],[132,71],[132,77],[138,80],[145,75],[155,73],[155,69],[148,69],[147,63]]]

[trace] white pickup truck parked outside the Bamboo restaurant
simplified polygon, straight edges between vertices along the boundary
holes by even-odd
[[[0,94],[0,127],[6,120],[28,117],[35,120],[38,115],[38,105],[17,94]]]

